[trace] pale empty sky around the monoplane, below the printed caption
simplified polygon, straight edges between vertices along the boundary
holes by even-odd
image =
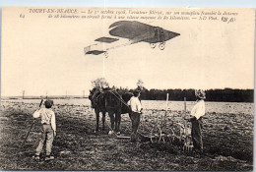
[[[110,50],[108,58],[85,55],[84,47],[108,35],[114,20],[48,19],[28,11],[2,10],[1,93],[88,94],[91,82],[135,88],[253,88],[254,18],[239,11],[235,23],[140,21],[180,33],[152,49],[140,42]],[[108,35],[109,36],[109,35]]]

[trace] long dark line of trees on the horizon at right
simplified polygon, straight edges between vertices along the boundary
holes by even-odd
[[[195,101],[195,89],[147,89],[145,87],[137,87],[141,90],[141,99],[143,100],[165,100],[166,93],[169,100],[183,101],[186,97],[187,101]],[[118,88],[118,92],[133,92],[135,89]],[[206,101],[224,101],[224,102],[253,102],[254,89],[207,89]]]

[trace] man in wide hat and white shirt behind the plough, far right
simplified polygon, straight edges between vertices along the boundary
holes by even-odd
[[[196,100],[197,103],[191,110],[191,116],[192,116],[192,118],[190,119],[192,123],[191,136],[192,136],[194,148],[202,152],[203,151],[202,116],[205,115],[205,111],[206,111],[205,101],[204,101],[204,99],[206,98],[206,93],[203,90],[199,89],[199,90],[195,90],[195,95],[197,97],[197,100]]]

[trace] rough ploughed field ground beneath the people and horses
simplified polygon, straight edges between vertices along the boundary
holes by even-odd
[[[1,102],[0,169],[2,170],[168,170],[168,171],[251,171],[253,170],[253,115],[244,113],[207,113],[204,120],[205,152],[201,157],[184,153],[179,143],[131,143],[105,132],[95,133],[95,113],[85,105],[54,105],[57,136],[53,142],[54,160],[32,159],[40,139],[32,112],[38,104]],[[149,130],[160,110],[146,110],[142,130]],[[168,128],[180,120],[181,111],[169,111]],[[152,120],[153,119],[153,120]],[[129,136],[130,120],[122,115],[121,133]],[[101,126],[101,125],[100,125]]]

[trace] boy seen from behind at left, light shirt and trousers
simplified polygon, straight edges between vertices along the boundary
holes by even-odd
[[[45,108],[40,108],[33,113],[33,118],[41,119],[42,133],[41,140],[36,147],[35,159],[40,159],[40,153],[44,143],[46,143],[46,157],[45,160],[54,159],[54,156],[51,156],[51,147],[54,136],[56,136],[56,123],[55,123],[55,113],[50,109],[53,105],[53,100],[47,99],[44,102]]]

